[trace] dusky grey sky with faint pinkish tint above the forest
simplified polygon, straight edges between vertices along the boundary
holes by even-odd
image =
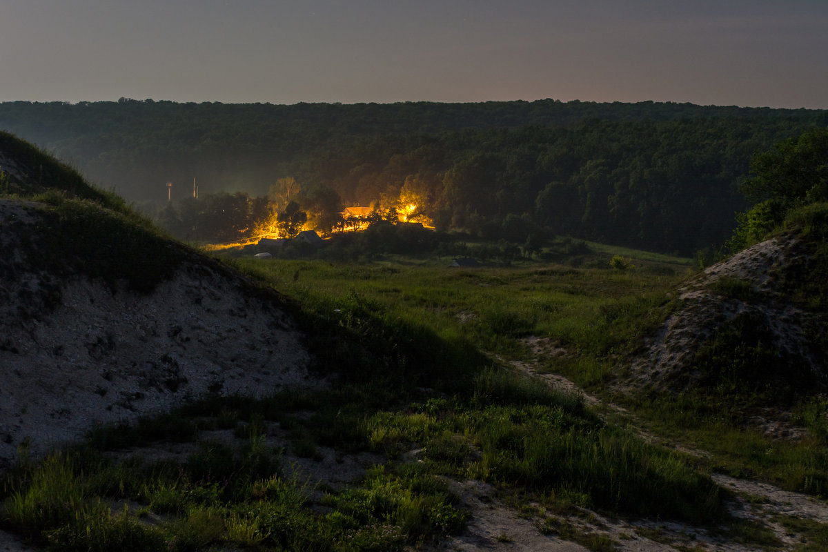
[[[828,0],[0,0],[0,101],[828,108]]]

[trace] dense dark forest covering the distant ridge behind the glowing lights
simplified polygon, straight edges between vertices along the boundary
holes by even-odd
[[[0,129],[182,238],[253,233],[291,199],[323,232],[346,205],[414,202],[480,238],[682,254],[729,238],[758,151],[826,126],[826,111],[689,103],[0,103]]]

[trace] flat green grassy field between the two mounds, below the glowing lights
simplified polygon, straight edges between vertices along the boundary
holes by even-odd
[[[609,375],[604,362],[609,352],[619,352],[662,321],[665,292],[691,270],[686,258],[590,247],[595,252],[581,256],[586,267],[578,268],[543,261],[450,268],[450,257],[400,256],[369,263],[237,262],[323,316],[368,304],[389,322],[405,319],[440,337],[518,357],[527,354],[523,338],[548,338],[571,353],[556,370],[589,385]],[[623,255],[632,267],[611,268],[614,255]]]

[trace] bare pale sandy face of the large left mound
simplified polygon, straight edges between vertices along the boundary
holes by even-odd
[[[41,309],[44,282],[55,282],[26,266],[20,243],[37,217],[0,200],[0,468],[24,442],[40,453],[210,390],[316,384],[277,298],[211,263],[185,263],[149,295],[77,276],[60,281],[56,308]]]

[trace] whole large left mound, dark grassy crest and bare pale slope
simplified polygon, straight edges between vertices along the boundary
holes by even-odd
[[[279,295],[7,134],[0,164],[0,468],[209,393],[316,383]]]

